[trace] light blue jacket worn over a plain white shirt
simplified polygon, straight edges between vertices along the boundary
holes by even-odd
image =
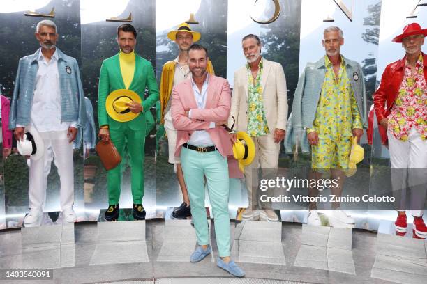
[[[30,124],[39,50],[20,59],[10,106],[9,129],[15,129],[16,125]],[[58,48],[57,52],[61,89],[61,122],[77,121],[79,128],[77,134],[79,135],[76,140],[78,141],[77,145],[80,145],[81,130],[86,123],[86,109],[79,66],[75,58],[63,54]]]

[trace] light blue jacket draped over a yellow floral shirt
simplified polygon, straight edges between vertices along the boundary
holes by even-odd
[[[368,109],[364,73],[359,63],[344,56],[343,59],[364,128],[367,128]],[[292,104],[292,117],[288,120],[284,141],[285,151],[288,153],[294,152],[296,144],[301,146],[302,152],[310,152],[310,145],[306,139],[306,128],[313,128],[325,73],[326,67],[324,56],[322,56],[316,63],[308,63],[301,77],[299,77]]]

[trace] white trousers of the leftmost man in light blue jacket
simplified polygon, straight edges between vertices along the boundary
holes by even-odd
[[[54,159],[61,182],[60,201],[62,210],[74,203],[73,143],[68,142],[67,130],[39,132],[45,143],[43,157],[31,159],[29,169],[29,207],[43,210],[46,202],[47,175]]]

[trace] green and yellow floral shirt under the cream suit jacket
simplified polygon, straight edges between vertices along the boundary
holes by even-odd
[[[269,134],[262,103],[262,61],[261,59],[255,81],[249,63],[246,64],[248,70],[248,134],[253,137]]]

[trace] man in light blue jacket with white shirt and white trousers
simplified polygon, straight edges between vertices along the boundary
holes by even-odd
[[[9,128],[17,140],[26,127],[37,129],[44,154],[32,159],[29,169],[29,214],[24,226],[40,226],[45,203],[47,175],[45,163],[53,154],[61,180],[63,220],[74,222],[73,141],[80,147],[78,129],[86,122],[80,71],[75,58],[63,54],[55,44],[57,26],[50,20],[37,24],[36,38],[41,48],[20,59],[10,107]],[[77,134],[78,137],[77,137]]]

